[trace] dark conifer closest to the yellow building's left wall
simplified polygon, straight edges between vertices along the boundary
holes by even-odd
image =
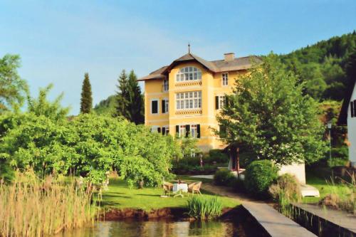
[[[128,80],[128,107],[130,113],[130,118],[128,118],[131,122],[135,122],[135,124],[142,124],[145,122],[144,115],[144,102],[141,94],[141,88],[137,83],[137,76],[134,71],[131,70]]]

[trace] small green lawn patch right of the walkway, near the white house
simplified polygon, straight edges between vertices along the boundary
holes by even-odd
[[[347,194],[349,188],[343,184],[333,184],[332,179],[321,179],[314,174],[306,174],[307,184],[314,186],[320,192],[320,197],[306,196],[303,198],[304,203],[316,203],[328,194],[338,194],[340,197]]]

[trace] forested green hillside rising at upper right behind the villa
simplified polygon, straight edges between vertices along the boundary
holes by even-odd
[[[306,93],[320,100],[342,100],[347,65],[356,50],[356,32],[335,36],[281,55],[290,70],[306,83]]]

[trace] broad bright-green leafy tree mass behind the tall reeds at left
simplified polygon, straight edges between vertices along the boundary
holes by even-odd
[[[117,169],[130,184],[157,186],[174,157],[172,137],[150,132],[127,120],[84,114],[71,121],[43,115],[0,117],[0,159],[39,174],[83,174],[95,184]]]

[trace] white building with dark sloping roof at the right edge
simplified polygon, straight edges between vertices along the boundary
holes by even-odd
[[[347,125],[349,159],[352,167],[356,167],[356,78],[342,102],[338,125]]]

